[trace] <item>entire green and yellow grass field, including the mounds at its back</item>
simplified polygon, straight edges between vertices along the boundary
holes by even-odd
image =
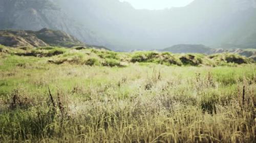
[[[0,51],[0,142],[256,140],[256,65],[242,56]]]

